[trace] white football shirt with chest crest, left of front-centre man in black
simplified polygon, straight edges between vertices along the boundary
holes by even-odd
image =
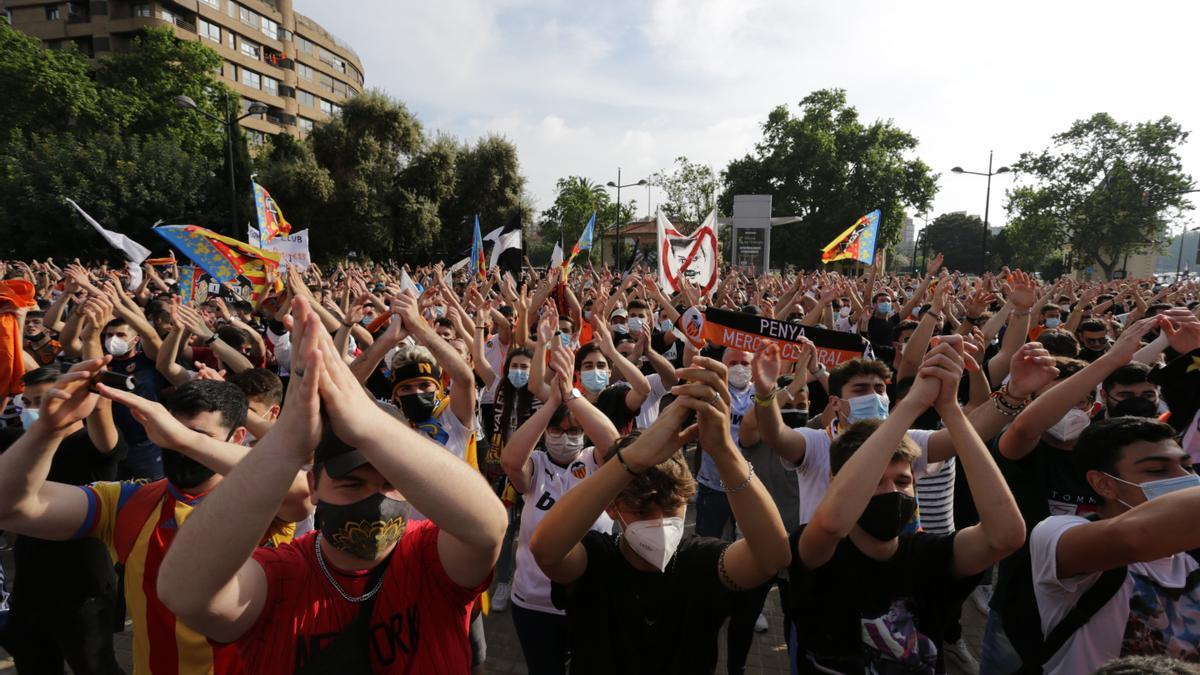
[[[533,537],[541,519],[568,490],[592,476],[599,466],[595,461],[595,448],[584,448],[580,456],[562,467],[550,460],[544,450],[534,450],[529,455],[533,461],[533,480],[524,494],[524,508],[521,509],[521,533],[517,537],[517,571],[512,579],[512,602],[524,609],[545,611],[546,614],[566,614],[554,608],[550,602],[550,578],[538,567],[529,552],[529,539]],[[592,524],[596,532],[611,532],[612,519],[601,513]]]

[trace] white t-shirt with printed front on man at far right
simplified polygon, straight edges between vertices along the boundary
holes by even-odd
[[[1043,634],[1052,631],[1100,578],[1097,572],[1058,579],[1058,539],[1067,530],[1086,522],[1079,515],[1051,515],[1030,536],[1033,596]],[[1093,673],[1114,658],[1133,655],[1195,661],[1200,649],[1200,590],[1181,589],[1198,567],[1187,554],[1130,565],[1124,585],[1046,662],[1045,673]]]

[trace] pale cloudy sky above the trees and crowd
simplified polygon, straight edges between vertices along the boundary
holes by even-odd
[[[348,41],[366,85],[428,131],[503,135],[538,209],[554,181],[623,183],[683,155],[720,172],[772,108],[842,88],[892,120],[940,174],[931,217],[983,214],[985,171],[1046,148],[1076,119],[1170,115],[1200,131],[1200,4],[910,0],[296,0]],[[1200,137],[1183,147],[1200,177]],[[1009,175],[992,179],[1003,225]],[[644,187],[622,192],[646,213]],[[649,204],[662,198],[654,191]]]

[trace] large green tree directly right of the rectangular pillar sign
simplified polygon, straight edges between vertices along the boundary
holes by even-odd
[[[811,268],[821,246],[872,209],[882,211],[880,247],[899,239],[905,208],[928,210],[936,177],[910,159],[917,137],[890,120],[863,123],[841,89],[805,96],[798,117],[785,106],[770,112],[752,153],[721,173],[719,204],[734,195],[772,195],[773,215],[797,215],[800,223],[774,232],[772,265]]]

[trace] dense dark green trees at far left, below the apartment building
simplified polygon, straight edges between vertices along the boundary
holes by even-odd
[[[223,132],[173,101],[188,95],[220,114],[227,90],[210,49],[149,30],[91,67],[0,22],[0,222],[14,234],[6,240],[13,255],[119,256],[62,197],[158,250],[166,244],[148,229],[158,219],[227,219]],[[238,156],[246,161],[240,139]]]

